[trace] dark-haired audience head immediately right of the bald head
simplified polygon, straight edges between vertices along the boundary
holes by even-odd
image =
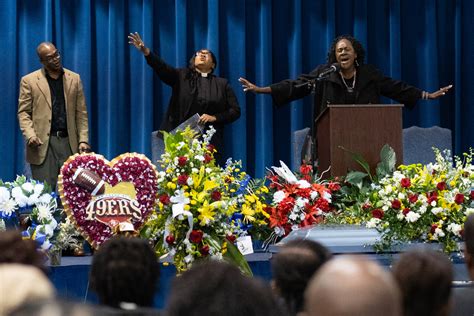
[[[453,280],[451,261],[432,250],[409,251],[393,266],[404,315],[448,315]]]

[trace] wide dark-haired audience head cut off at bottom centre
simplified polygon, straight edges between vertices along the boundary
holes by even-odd
[[[195,264],[177,277],[167,303],[168,316],[282,315],[270,287],[225,262]]]

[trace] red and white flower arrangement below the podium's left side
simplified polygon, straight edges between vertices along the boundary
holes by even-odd
[[[273,241],[293,230],[321,223],[333,210],[333,193],[340,189],[337,182],[324,183],[313,176],[310,165],[303,164],[300,174],[295,175],[283,162],[280,164],[267,176],[273,196],[267,208]]]

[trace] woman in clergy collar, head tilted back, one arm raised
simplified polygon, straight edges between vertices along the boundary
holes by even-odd
[[[211,144],[216,147],[216,161],[222,165],[224,125],[240,117],[240,107],[227,79],[213,74],[217,59],[208,49],[198,50],[187,68],[174,68],[151,52],[138,33],[130,33],[129,43],[146,58],[158,77],[173,91],[160,130],[171,131],[194,114],[206,128],[212,125],[216,133]]]

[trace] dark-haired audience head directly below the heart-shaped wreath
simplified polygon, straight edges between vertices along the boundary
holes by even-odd
[[[149,307],[159,275],[159,262],[147,241],[119,236],[106,241],[94,254],[90,285],[104,305]]]

